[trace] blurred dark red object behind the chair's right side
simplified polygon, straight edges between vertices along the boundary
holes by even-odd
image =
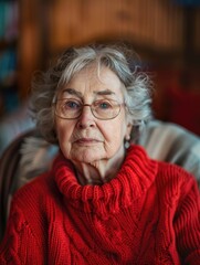
[[[181,88],[166,91],[167,119],[200,136],[200,92]]]

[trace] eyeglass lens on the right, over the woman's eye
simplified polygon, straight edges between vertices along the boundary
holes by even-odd
[[[115,100],[96,100],[92,104],[92,112],[96,118],[112,119],[120,112],[120,105]]]

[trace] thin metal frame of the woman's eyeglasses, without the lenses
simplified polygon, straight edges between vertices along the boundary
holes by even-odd
[[[93,115],[95,118],[97,118],[97,119],[99,119],[99,120],[110,120],[110,119],[116,118],[116,117],[120,114],[120,109],[122,109],[123,106],[126,106],[125,103],[118,103],[117,100],[109,99],[109,100],[112,100],[112,102],[115,102],[115,103],[118,105],[118,107],[119,107],[118,113],[117,113],[114,117],[112,117],[112,118],[99,118],[99,117],[96,117],[95,114],[93,113],[93,112],[94,112],[94,109],[93,109],[93,104],[94,104],[95,102],[98,102],[98,100],[94,100],[92,104],[82,104],[82,112],[80,113],[80,115],[78,115],[77,117],[75,117],[75,118],[65,118],[65,117],[62,117],[61,115],[57,115],[57,113],[56,113],[56,104],[57,104],[57,102],[62,102],[62,100],[64,100],[64,99],[77,100],[77,99],[75,99],[75,98],[61,98],[61,99],[55,99],[55,100],[53,100],[52,105],[53,105],[53,107],[54,107],[54,114],[55,114],[57,117],[62,118],[62,119],[78,119],[78,118],[82,116],[82,114],[83,114],[83,108],[84,108],[84,107],[90,107],[91,113],[92,113],[92,115]],[[104,99],[99,99],[99,100],[104,100]]]

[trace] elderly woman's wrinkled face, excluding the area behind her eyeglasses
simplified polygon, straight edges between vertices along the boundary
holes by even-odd
[[[124,103],[122,83],[107,67],[102,67],[99,77],[95,65],[82,70],[62,87],[59,98],[73,98],[82,104],[99,99]],[[63,155],[74,162],[92,163],[124,156],[124,138],[130,132],[125,107],[114,119],[101,120],[93,116],[90,106],[84,106],[76,119],[55,116],[55,127]]]

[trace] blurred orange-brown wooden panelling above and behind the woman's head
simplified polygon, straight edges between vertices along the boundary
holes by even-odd
[[[21,0],[20,94],[29,95],[32,73],[44,68],[64,49],[125,40],[144,57],[160,66],[182,67],[185,10],[160,0]],[[36,15],[35,15],[36,14]],[[200,9],[193,13],[193,55],[200,66]]]

